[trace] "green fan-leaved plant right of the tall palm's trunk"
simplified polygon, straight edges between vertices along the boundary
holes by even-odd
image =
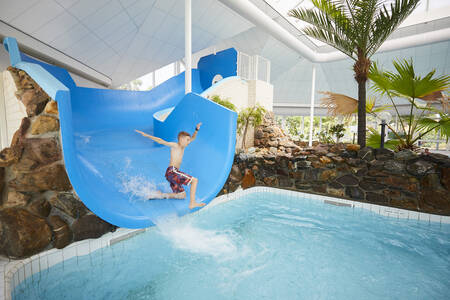
[[[449,114],[444,110],[432,107],[431,102],[440,99],[430,98],[430,95],[437,91],[443,95],[443,92],[446,92],[450,86],[450,76],[434,76],[435,70],[432,70],[421,77],[416,74],[412,60],[394,61],[393,65],[395,72],[383,71],[376,62],[373,63],[369,78],[373,82],[372,89],[389,98],[400,121],[401,131],[397,131],[387,124],[399,141],[397,148],[399,150],[414,149],[416,142],[432,131],[439,132],[448,141],[450,136]],[[400,115],[394,98],[403,98],[409,101],[408,115]],[[427,99],[425,105],[421,105],[422,100],[419,99]],[[427,116],[427,114],[434,116]],[[377,117],[375,112],[372,115]]]

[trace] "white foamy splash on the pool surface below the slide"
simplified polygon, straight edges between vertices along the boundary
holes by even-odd
[[[165,216],[155,220],[155,224],[160,234],[178,249],[215,258],[231,258],[238,253],[238,247],[229,231],[197,228],[177,216]]]

